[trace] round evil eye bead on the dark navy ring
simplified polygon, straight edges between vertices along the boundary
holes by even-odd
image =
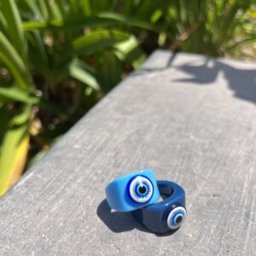
[[[184,207],[175,207],[168,215],[166,223],[171,230],[176,230],[183,224],[187,212]]]

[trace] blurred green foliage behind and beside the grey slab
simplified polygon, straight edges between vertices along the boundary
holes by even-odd
[[[154,49],[253,58],[255,18],[249,0],[0,0],[0,195]]]

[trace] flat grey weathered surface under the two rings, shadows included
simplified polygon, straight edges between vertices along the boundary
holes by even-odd
[[[0,254],[255,255],[255,69],[156,51],[0,199]],[[186,191],[172,236],[104,201],[148,167]]]

